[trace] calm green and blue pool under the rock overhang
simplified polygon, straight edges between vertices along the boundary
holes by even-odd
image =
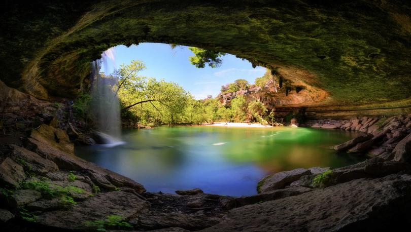
[[[358,136],[308,128],[156,127],[123,132],[126,144],[76,147],[76,154],[148,191],[201,188],[230,196],[256,194],[267,174],[295,168],[341,167],[360,160],[329,146]]]

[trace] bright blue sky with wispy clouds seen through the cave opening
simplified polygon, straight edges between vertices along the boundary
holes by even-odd
[[[188,58],[193,53],[185,46],[171,49],[167,44],[142,43],[129,48],[120,45],[111,51],[114,60],[108,59],[107,63],[103,63],[101,71],[112,73],[114,67],[122,63],[141,60],[147,66],[140,72],[141,75],[176,82],[196,99],[206,98],[207,95],[216,97],[222,85],[237,79],[254,83],[265,72],[265,68],[253,68],[250,62],[230,54],[223,57],[223,63],[218,68],[207,65],[205,68],[196,68]]]

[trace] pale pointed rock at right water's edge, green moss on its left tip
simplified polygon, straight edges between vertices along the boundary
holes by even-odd
[[[303,168],[272,174],[264,177],[258,182],[257,191],[263,194],[272,190],[280,189],[286,184],[298,180],[301,176],[310,174],[310,170]]]

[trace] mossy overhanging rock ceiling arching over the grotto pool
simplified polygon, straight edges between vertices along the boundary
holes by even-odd
[[[308,91],[291,92],[284,105],[411,96],[405,0],[3,1],[1,9],[1,79],[40,98],[74,97],[102,51],[141,42],[215,49],[276,69]]]

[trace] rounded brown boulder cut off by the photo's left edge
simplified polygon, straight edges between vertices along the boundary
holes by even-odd
[[[0,182],[8,185],[19,186],[26,178],[23,167],[7,157],[0,162]]]

